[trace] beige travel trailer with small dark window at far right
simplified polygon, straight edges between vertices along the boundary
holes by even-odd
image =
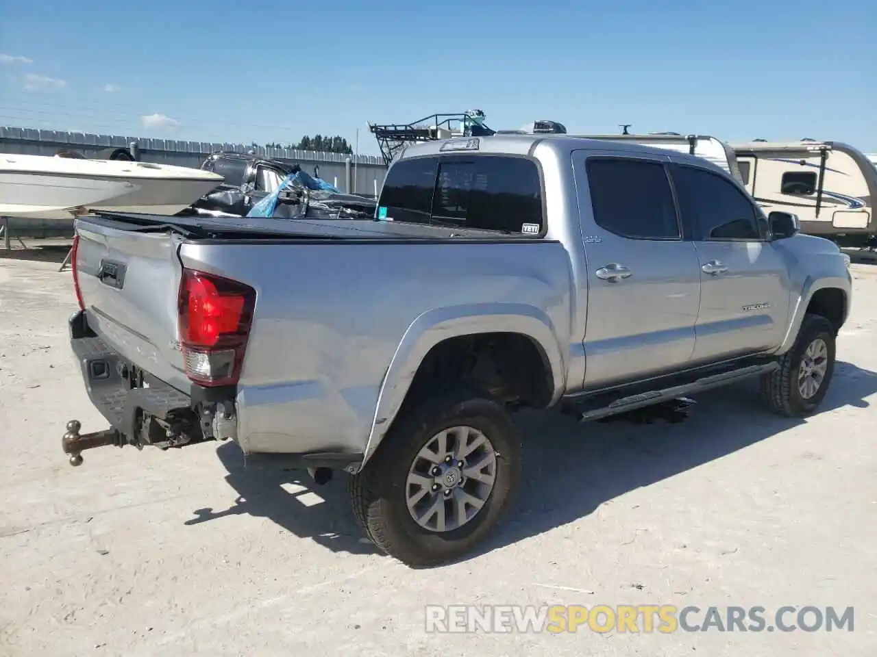
[[[732,144],[743,183],[769,214],[793,212],[801,230],[843,247],[873,247],[877,168],[837,141]]]

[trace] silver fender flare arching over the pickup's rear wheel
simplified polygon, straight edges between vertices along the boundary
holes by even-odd
[[[410,323],[390,359],[381,382],[371,430],[362,458],[374,456],[392,426],[424,357],[437,344],[453,337],[479,333],[518,333],[529,337],[541,351],[551,372],[553,405],[563,394],[566,361],[551,318],[537,307],[518,303],[483,303],[428,310]]]

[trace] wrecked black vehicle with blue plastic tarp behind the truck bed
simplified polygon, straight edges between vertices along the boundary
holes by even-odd
[[[253,208],[271,208],[285,218],[374,216],[375,201],[358,194],[344,194],[337,187],[311,176],[302,167],[277,159],[239,152],[216,152],[204,159],[202,169],[218,173],[225,181],[192,206],[190,214],[246,216]],[[189,214],[189,213],[187,213]]]

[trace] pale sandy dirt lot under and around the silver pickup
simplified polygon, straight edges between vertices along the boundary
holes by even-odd
[[[70,273],[39,259],[0,257],[0,654],[877,654],[877,265],[853,265],[822,413],[776,418],[743,385],[681,425],[522,414],[526,483],[496,540],[412,570],[362,538],[343,477],[245,470],[228,444],[69,467],[67,420],[105,425],[68,350]],[[696,605],[695,625],[852,606],[854,628],[435,634],[427,604]]]

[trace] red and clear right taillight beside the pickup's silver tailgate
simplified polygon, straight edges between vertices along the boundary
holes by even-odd
[[[186,376],[201,385],[234,385],[244,363],[256,291],[213,274],[182,271],[180,343]]]

